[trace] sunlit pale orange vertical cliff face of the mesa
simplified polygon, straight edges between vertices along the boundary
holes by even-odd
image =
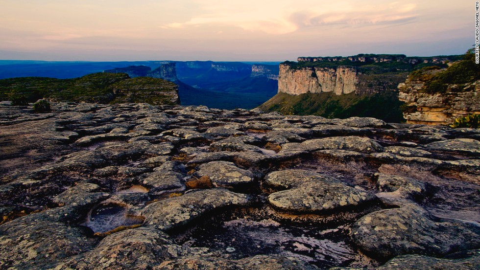
[[[337,95],[355,92],[358,83],[355,67],[291,68],[280,64],[278,92],[299,95],[307,92],[334,92]]]

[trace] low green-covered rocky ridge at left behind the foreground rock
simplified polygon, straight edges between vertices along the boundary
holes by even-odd
[[[163,79],[130,78],[125,73],[93,73],[74,79],[19,77],[0,80],[0,100],[23,96],[27,102],[41,98],[58,101],[153,105],[178,103],[177,86]]]

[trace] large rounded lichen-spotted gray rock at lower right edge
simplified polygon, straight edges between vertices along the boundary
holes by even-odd
[[[445,255],[479,248],[480,225],[460,220],[439,220],[414,204],[380,210],[358,220],[351,236],[372,256],[403,254]]]

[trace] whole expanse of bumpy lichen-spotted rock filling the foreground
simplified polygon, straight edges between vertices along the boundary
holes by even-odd
[[[1,269],[479,269],[480,131],[0,103]]]

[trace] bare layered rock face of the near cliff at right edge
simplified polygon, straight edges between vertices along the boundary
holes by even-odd
[[[480,114],[480,81],[466,85],[448,85],[444,93],[429,93],[424,83],[413,81],[398,86],[399,99],[408,106],[404,118],[411,124],[445,125],[455,118]]]

